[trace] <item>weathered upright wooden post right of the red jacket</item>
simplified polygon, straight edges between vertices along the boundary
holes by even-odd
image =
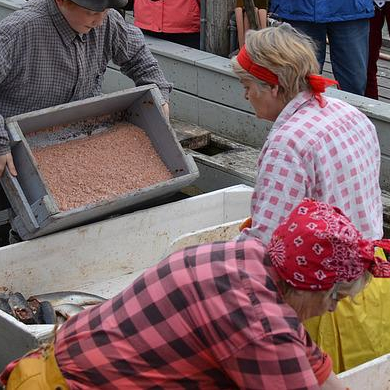
[[[227,57],[229,54],[229,20],[236,0],[206,1],[206,51]]]

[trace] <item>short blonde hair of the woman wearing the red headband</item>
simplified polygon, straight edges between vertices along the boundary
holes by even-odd
[[[299,92],[310,90],[307,76],[319,73],[315,44],[305,34],[288,23],[260,31],[248,31],[246,50],[252,61],[275,73],[279,79],[279,95],[284,102]],[[250,79],[264,85],[264,81],[248,73],[237,61],[231,60],[233,71],[241,79]]]

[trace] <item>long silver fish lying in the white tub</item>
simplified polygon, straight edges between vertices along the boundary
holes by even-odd
[[[87,306],[97,305],[106,301],[106,298],[99,297],[95,294],[89,294],[81,291],[59,291],[47,294],[33,295],[30,299],[38,299],[38,301],[49,301],[53,306],[59,306],[64,303],[73,303],[75,305]]]

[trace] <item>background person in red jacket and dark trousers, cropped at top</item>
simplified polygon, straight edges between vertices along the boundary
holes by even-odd
[[[134,0],[134,24],[145,34],[200,46],[200,0]]]

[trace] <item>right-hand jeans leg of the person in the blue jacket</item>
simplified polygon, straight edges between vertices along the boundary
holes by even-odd
[[[364,95],[369,26],[369,19],[328,23],[333,74],[343,91]]]

